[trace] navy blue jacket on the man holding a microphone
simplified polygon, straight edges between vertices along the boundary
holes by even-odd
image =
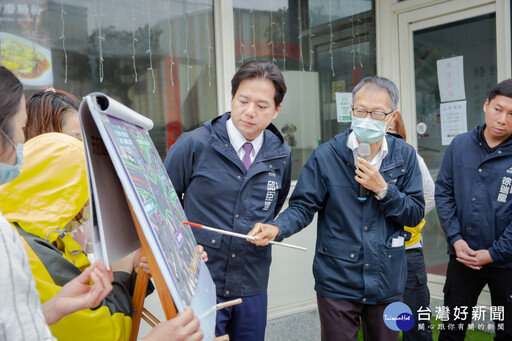
[[[313,262],[318,294],[365,304],[397,301],[405,286],[405,248],[392,246],[404,236],[403,226],[423,219],[424,199],[420,168],[414,148],[386,136],[389,152],[380,174],[388,183],[387,195],[357,199],[350,129],[313,151],[300,174],[289,207],[273,222],[280,239],[307,226],[318,212]],[[396,244],[395,244],[396,245]]]

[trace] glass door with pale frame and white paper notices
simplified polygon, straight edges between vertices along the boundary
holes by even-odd
[[[482,106],[499,79],[496,5],[469,2],[451,1],[398,16],[407,142],[417,147],[434,180],[451,139],[484,122]],[[446,239],[435,209],[425,221],[427,272],[444,276]]]

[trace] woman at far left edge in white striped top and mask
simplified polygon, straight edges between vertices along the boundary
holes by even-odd
[[[27,120],[20,81],[0,67],[0,184],[14,180],[23,163]],[[25,249],[0,212],[0,340],[53,340],[48,324],[77,310],[96,307],[112,290],[112,273],[100,263],[89,267],[41,305]],[[89,280],[95,284],[88,285]]]

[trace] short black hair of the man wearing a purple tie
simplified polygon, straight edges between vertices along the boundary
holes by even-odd
[[[235,96],[240,83],[246,79],[268,79],[274,84],[276,90],[274,94],[276,108],[283,101],[286,94],[286,83],[283,74],[275,64],[252,60],[242,65],[231,79],[231,96]]]

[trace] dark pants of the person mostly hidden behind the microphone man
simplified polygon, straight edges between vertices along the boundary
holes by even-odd
[[[404,341],[432,341],[430,320],[418,321],[418,310],[425,310],[430,306],[423,248],[405,250],[405,255],[407,256],[407,282],[403,299],[404,303],[411,308],[416,323],[411,330],[403,332],[403,339]],[[418,328],[419,325],[421,328]]]

